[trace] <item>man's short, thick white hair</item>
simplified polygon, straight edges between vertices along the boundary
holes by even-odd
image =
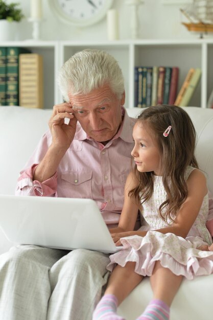
[[[58,85],[66,102],[68,94],[86,95],[93,89],[109,85],[121,99],[124,93],[124,77],[117,61],[105,51],[86,49],[77,52],[61,67]]]

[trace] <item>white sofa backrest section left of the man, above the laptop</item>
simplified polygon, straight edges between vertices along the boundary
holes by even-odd
[[[48,130],[51,113],[52,110],[0,107],[0,194],[14,194],[19,171]]]

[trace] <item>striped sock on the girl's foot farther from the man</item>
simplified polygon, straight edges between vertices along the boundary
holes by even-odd
[[[163,301],[155,299],[136,320],[169,320],[169,318],[170,307]]]

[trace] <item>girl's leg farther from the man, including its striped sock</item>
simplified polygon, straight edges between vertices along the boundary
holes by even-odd
[[[169,319],[170,306],[180,287],[182,279],[182,276],[174,275],[170,269],[162,267],[160,262],[157,261],[150,278],[154,295],[153,300],[137,320]]]

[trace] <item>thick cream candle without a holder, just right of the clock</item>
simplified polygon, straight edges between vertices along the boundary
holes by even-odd
[[[119,39],[119,13],[116,9],[107,11],[107,35],[109,40]]]

